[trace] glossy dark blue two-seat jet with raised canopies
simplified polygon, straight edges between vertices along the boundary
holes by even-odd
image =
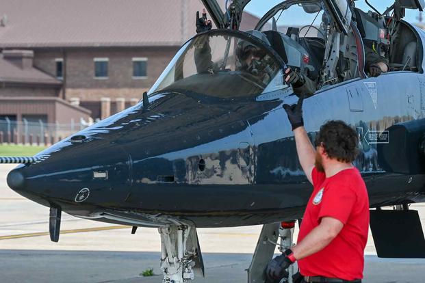
[[[409,210],[425,202],[425,32],[402,20],[425,2],[366,13],[353,1],[286,0],[247,33],[238,29],[249,2],[223,10],[203,0],[217,29],[183,44],[138,105],[35,157],[1,159],[22,163],[8,175],[10,188],[51,208],[52,241],[62,211],[133,232],[158,228],[164,282],[203,272],[196,228],[263,224],[248,270],[248,282],[262,282],[281,221],[302,218],[312,189],[282,108],[298,100],[284,79],[290,67],[317,85],[303,108],[311,139],[326,120],[359,134],[355,166],[368,187],[378,255],[425,258],[420,220]],[[279,25],[291,8],[315,21]],[[367,75],[366,44],[389,60],[388,72]]]

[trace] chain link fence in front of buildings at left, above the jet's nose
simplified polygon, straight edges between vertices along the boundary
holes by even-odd
[[[42,120],[28,122],[23,119],[22,122],[17,122],[6,118],[0,120],[0,144],[49,146],[87,126],[88,123],[75,123],[73,120],[69,124],[51,124]]]

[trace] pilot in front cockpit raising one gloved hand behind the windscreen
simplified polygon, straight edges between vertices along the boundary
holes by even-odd
[[[203,31],[210,30],[211,28],[212,23],[207,19],[205,9],[203,10],[201,18],[199,17],[199,12],[196,12],[196,33],[201,33]],[[268,42],[267,37],[264,36],[261,31],[253,30],[247,31],[247,33],[259,38],[259,40]],[[272,79],[270,75],[274,70],[272,70],[266,60],[263,59],[266,54],[261,52],[261,49],[246,40],[240,40],[237,42],[236,55],[238,61],[237,70],[242,70],[254,75],[265,85],[270,82]],[[196,69],[198,72],[207,71],[214,73],[215,68],[214,63],[211,62],[211,47],[209,46],[209,42],[205,42],[195,50],[195,58]],[[304,94],[305,97],[309,97],[313,95],[316,90],[315,83],[309,79],[309,77],[298,72],[298,70],[287,68],[287,70],[285,70],[284,77],[285,81],[292,85],[294,93],[297,96]]]

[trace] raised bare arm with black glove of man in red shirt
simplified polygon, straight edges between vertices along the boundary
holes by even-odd
[[[304,96],[300,96],[297,104],[294,105],[283,105],[289,122],[292,125],[292,131],[294,131],[296,152],[298,153],[298,159],[302,170],[307,176],[310,183],[313,183],[311,179],[311,171],[314,167],[315,161],[315,149],[310,142],[307,132],[304,129],[304,120],[302,119],[302,101]]]

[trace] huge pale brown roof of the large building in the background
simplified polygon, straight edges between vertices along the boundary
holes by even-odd
[[[0,48],[181,46],[202,9],[201,0],[0,0]],[[255,20],[246,14],[241,29]]]

